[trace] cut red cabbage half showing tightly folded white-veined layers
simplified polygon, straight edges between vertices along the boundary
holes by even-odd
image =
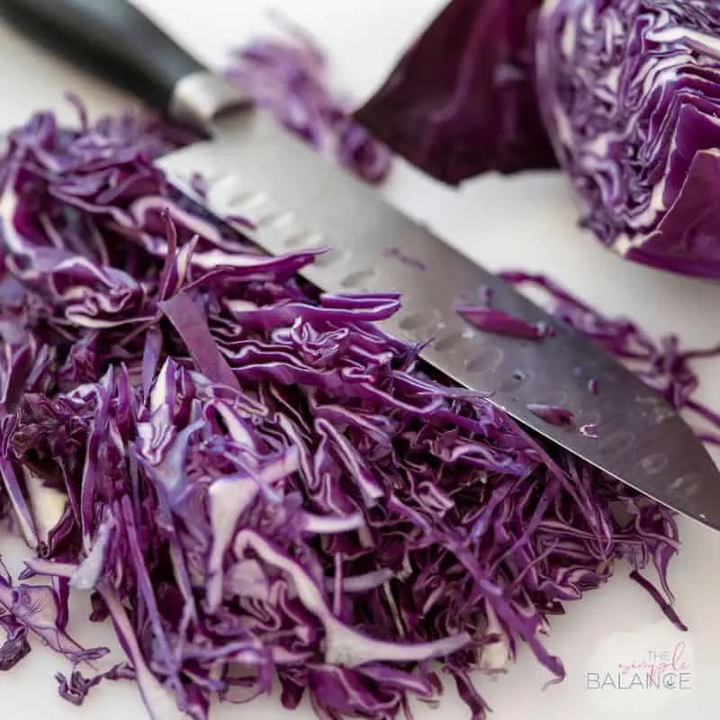
[[[583,223],[631,260],[720,277],[720,6],[553,0],[536,52]]]

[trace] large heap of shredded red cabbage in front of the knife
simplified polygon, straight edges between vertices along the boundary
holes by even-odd
[[[65,631],[75,587],[153,718],[274,674],[286,707],[393,717],[437,698],[430,660],[480,718],[471,671],[525,642],[563,677],[547,617],[616,561],[652,563],[669,612],[669,510],[425,377],[375,324],[396,296],[320,295],[312,252],[268,258],[177,198],[149,162],[173,144],[43,114],[0,162],[0,508],[37,554],[0,582],[7,666],[23,632],[102,656]]]

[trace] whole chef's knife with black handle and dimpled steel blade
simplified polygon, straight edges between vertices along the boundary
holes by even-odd
[[[448,378],[491,392],[490,401],[529,428],[639,491],[720,529],[720,473],[688,425],[660,395],[612,357],[554,320],[495,275],[394,210],[317,156],[238,88],[208,71],[125,0],[0,0],[0,14],[46,47],[139,96],[212,139],[162,158],[185,192],[200,172],[206,203],[256,223],[271,254],[327,245],[303,275],[329,293],[402,293],[385,327],[427,341],[422,358]],[[479,229],[482,231],[482,229]],[[503,238],[493,238],[503,241]],[[403,262],[394,248],[419,260]],[[427,271],[419,269],[428,268]],[[554,337],[539,342],[474,329],[454,308],[484,286],[493,304]],[[599,393],[589,391],[589,380]],[[558,427],[528,404],[561,405]],[[597,425],[598,438],[578,428]]]

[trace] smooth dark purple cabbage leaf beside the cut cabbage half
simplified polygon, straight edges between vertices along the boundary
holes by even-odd
[[[557,167],[535,85],[542,0],[452,0],[355,113],[374,137],[448,184]]]

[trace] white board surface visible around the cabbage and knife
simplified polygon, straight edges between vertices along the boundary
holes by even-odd
[[[315,33],[329,50],[338,85],[362,100],[382,81],[406,43],[437,12],[443,0],[138,0],[158,21],[202,59],[222,63],[229,47],[266,28],[271,7]],[[127,98],[49,58],[0,25],[0,125],[24,121],[40,108],[55,108],[66,118],[62,94],[80,94],[94,113],[112,111]],[[709,345],[720,338],[720,285],[662,275],[625,264],[575,226],[572,202],[563,178],[534,175],[486,177],[460,192],[428,182],[398,166],[382,191],[410,214],[428,221],[441,235],[491,268],[522,266],[545,271],[612,313],[630,312],[655,333],[679,329],[689,344]],[[720,407],[718,365],[703,369],[703,397]],[[720,701],[720,535],[681,523],[684,546],[672,563],[671,585],[677,609],[690,631],[681,635],[664,620],[653,601],[618,567],[608,586],[568,606],[554,619],[547,641],[567,668],[563,683],[543,690],[548,674],[526,650],[507,676],[480,679],[483,694],[498,720],[709,720]],[[15,568],[22,548],[3,539],[0,551]],[[77,599],[71,631],[87,644],[112,644],[108,628],[84,622],[85,599]],[[586,673],[617,672],[619,663],[644,659],[649,652],[687,643],[692,689],[591,691]],[[36,651],[12,673],[0,676],[0,716],[55,720],[127,720],[145,717],[131,684],[105,684],[78,709],[58,699],[53,674],[67,670],[62,659]],[[226,707],[212,717],[222,720],[288,717],[275,698],[252,707]],[[468,711],[448,689],[439,710],[417,709],[420,720],[460,720]],[[303,709],[295,717],[311,717]]]

